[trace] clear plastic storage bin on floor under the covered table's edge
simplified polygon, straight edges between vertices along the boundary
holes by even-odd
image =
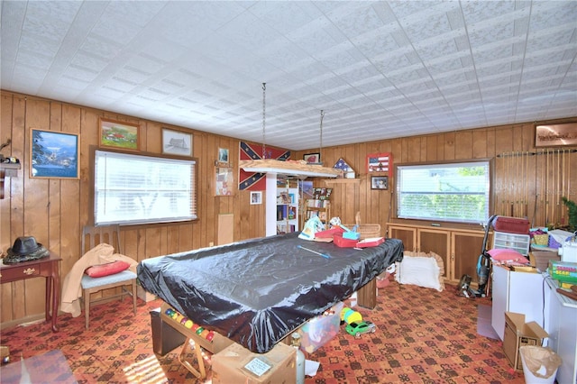
[[[298,334],[301,350],[315,352],[339,333],[343,306],[342,302],[337,303],[327,311],[330,315],[318,315],[300,327]]]

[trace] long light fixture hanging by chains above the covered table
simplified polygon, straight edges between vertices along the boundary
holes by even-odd
[[[323,117],[321,110],[321,150],[323,146]],[[337,178],[343,175],[342,169],[323,167],[322,163],[307,164],[305,160],[273,160],[266,150],[266,83],[262,83],[262,158],[261,160],[240,160],[239,167],[247,172],[277,173],[298,178]]]

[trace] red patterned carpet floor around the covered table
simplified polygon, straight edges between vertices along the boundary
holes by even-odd
[[[73,377],[45,370],[42,382],[210,383],[210,370],[206,379],[197,380],[180,364],[179,349],[164,356],[152,351],[150,311],[160,300],[138,303],[136,316],[129,298],[96,306],[89,330],[84,315],[68,314],[59,316],[57,334],[45,323],[3,330],[1,344],[10,348],[12,363],[60,351]],[[354,308],[377,325],[376,333],[355,339],[341,326],[334,339],[306,353],[308,360],[320,362],[316,376],[306,382],[525,382],[523,373],[509,366],[502,343],[477,333],[479,305],[490,306],[490,299],[458,297],[452,286],[437,292],[391,282],[379,289],[375,309]],[[210,366],[210,355],[206,361]],[[6,375],[0,381],[9,382]]]

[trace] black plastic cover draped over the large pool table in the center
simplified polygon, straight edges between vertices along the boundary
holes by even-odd
[[[356,250],[288,233],[147,259],[137,271],[142,288],[194,323],[264,353],[402,257],[398,239]]]

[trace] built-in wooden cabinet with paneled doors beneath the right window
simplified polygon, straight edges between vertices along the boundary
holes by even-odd
[[[405,251],[435,252],[444,261],[444,280],[457,284],[464,274],[476,286],[477,262],[483,248],[484,231],[387,224],[388,236],[400,239]]]

